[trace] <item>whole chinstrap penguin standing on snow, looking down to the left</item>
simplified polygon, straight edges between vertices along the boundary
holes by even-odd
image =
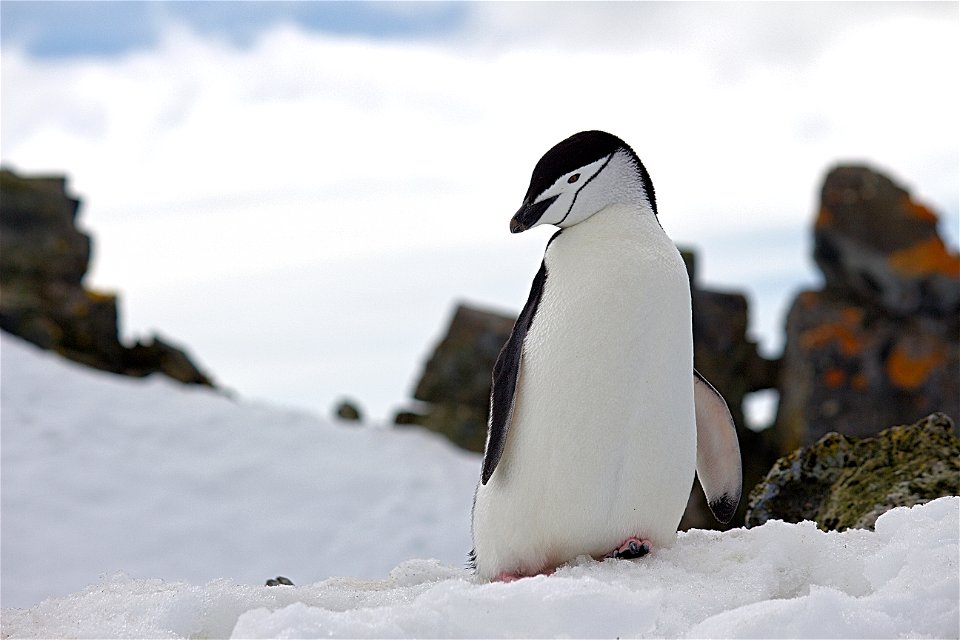
[[[603,131],[558,143],[510,231],[540,225],[559,230],[493,370],[470,555],[485,580],[671,545],[694,473],[720,522],[740,501],[736,428],[693,367],[687,272],[640,158]]]

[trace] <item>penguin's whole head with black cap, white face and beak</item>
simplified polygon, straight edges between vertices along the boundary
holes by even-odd
[[[656,215],[653,182],[626,142],[604,131],[581,131],[537,162],[510,232],[541,224],[571,227],[616,203],[637,204]]]

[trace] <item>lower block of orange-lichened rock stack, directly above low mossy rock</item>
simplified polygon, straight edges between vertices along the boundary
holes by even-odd
[[[806,291],[787,316],[780,453],[829,432],[876,433],[942,410],[960,415],[960,343],[949,322],[895,319]]]

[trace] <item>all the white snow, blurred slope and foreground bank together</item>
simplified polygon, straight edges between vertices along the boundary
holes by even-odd
[[[0,346],[4,638],[960,635],[958,497],[486,584],[477,456]]]

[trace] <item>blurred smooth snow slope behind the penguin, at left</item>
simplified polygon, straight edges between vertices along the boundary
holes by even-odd
[[[4,607],[116,571],[301,584],[466,561],[480,458],[439,436],[100,373],[0,336]]]

